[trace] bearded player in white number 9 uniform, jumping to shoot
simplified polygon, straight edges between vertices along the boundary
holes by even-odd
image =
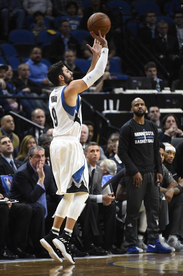
[[[62,61],[51,65],[47,72],[49,81],[55,86],[49,97],[49,110],[54,125],[50,157],[58,188],[57,194],[64,196],[58,204],[52,229],[40,242],[49,255],[60,263],[60,251],[65,259],[75,263],[70,249],[71,235],[89,195],[88,167],[82,145],[79,143],[82,125],[79,93],[92,86],[104,74],[108,60],[105,36],[101,36],[100,31],[99,35],[93,32],[90,34],[94,38],[94,44],[93,47],[87,46],[93,53],[93,60],[85,77],[74,80],[72,72]],[[59,236],[65,217],[66,225]]]

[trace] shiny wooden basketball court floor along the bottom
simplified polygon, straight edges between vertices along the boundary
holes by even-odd
[[[120,275],[183,275],[183,252],[171,254],[109,255],[75,258],[57,263],[52,259],[0,260],[0,275],[39,276],[120,276]]]

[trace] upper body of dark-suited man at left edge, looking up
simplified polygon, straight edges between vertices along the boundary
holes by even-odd
[[[14,174],[22,162],[13,157],[13,144],[8,136],[0,138],[0,175]]]

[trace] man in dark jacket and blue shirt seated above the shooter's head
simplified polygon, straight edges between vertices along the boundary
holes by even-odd
[[[50,45],[50,60],[55,63],[59,60],[64,59],[64,52],[71,49],[75,52],[75,55],[79,57],[80,54],[80,44],[77,39],[71,36],[71,28],[68,20],[62,20],[59,23],[58,30],[60,31],[60,36],[53,39]]]

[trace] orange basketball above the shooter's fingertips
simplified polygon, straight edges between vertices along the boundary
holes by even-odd
[[[111,29],[111,20],[105,13],[93,13],[87,22],[88,30],[98,34],[101,31],[101,35],[104,36]]]

